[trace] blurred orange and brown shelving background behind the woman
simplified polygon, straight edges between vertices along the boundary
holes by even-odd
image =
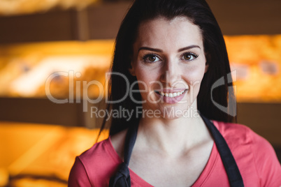
[[[236,70],[238,123],[281,159],[281,1],[207,0]],[[0,186],[67,186],[132,1],[0,0]],[[85,112],[87,110],[87,112]],[[105,130],[100,140],[108,135]],[[261,150],[262,151],[262,150]]]

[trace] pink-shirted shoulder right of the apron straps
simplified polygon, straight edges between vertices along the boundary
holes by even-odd
[[[253,181],[247,179],[254,179],[259,181],[259,186],[281,185],[280,163],[264,137],[241,124],[213,123],[229,145],[246,184],[250,185]]]

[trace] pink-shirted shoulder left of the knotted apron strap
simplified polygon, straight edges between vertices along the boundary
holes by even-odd
[[[89,186],[107,186],[112,174],[122,161],[113,148],[110,137],[94,144],[90,149],[75,159],[69,175],[69,183],[79,184],[81,181]]]

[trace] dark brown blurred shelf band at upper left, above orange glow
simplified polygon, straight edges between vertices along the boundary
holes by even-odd
[[[130,3],[101,3],[84,10],[0,17],[0,44],[112,39]]]

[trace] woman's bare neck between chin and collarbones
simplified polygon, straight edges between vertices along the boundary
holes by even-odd
[[[143,140],[143,148],[178,156],[210,140],[210,133],[199,114],[176,119],[145,117],[140,121],[138,138]]]

